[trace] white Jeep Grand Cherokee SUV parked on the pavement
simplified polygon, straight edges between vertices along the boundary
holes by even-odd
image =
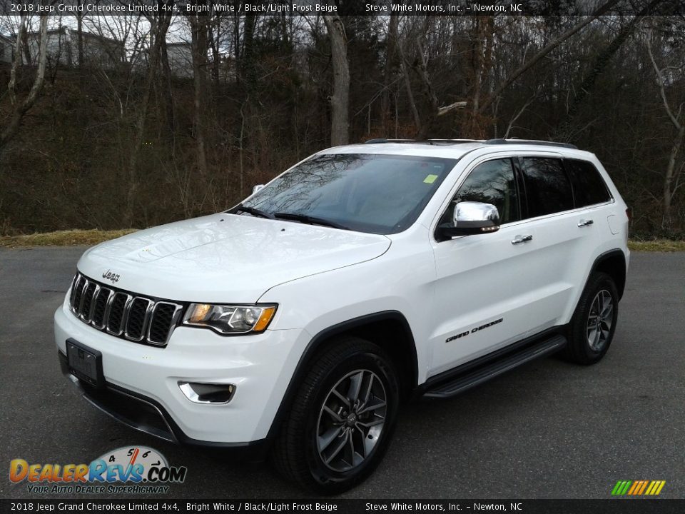
[[[96,407],[337,493],[379,463],[402,400],[612,342],[629,216],[592,153],[373,140],[255,190],[83,254],[55,338]]]

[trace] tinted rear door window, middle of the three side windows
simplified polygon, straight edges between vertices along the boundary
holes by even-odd
[[[524,157],[521,170],[526,184],[528,216],[534,218],[573,208],[571,183],[559,159]]]

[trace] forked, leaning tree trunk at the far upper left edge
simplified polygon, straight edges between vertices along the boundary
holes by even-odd
[[[29,95],[26,96],[23,102],[17,102],[16,99],[16,71],[19,67],[19,61],[21,61],[21,52],[19,51],[19,46],[21,41],[26,36],[26,16],[21,16],[21,22],[19,25],[19,34],[16,36],[16,51],[14,53],[14,62],[12,63],[12,69],[10,74],[9,84],[7,88],[9,89],[9,98],[11,103],[14,104],[14,111],[12,112],[9,124],[0,132],[0,153],[3,151],[7,143],[13,138],[19,131],[19,126],[21,125],[21,119],[24,118],[31,107],[36,103],[38,99],[38,94],[43,88],[43,83],[45,81],[45,66],[47,62],[47,31],[48,31],[48,16],[41,16],[41,28],[40,28],[40,43],[38,50],[38,69],[36,70],[36,78],[34,79],[34,84],[31,86],[31,91]]]

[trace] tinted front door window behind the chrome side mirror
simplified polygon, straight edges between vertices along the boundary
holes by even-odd
[[[514,182],[514,169],[509,159],[487,161],[474,168],[452,198],[442,223],[452,219],[455,205],[460,201],[492,203],[499,211],[499,222],[517,221],[519,200]]]

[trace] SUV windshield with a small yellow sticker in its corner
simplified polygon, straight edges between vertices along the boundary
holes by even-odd
[[[414,223],[456,163],[448,158],[368,153],[315,156],[275,178],[241,206],[252,215],[397,233]]]

